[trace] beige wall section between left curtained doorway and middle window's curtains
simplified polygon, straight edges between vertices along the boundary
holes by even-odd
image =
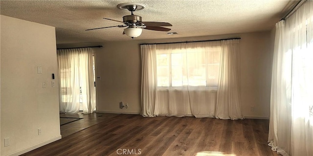
[[[98,111],[113,113],[140,112],[140,47],[136,41],[112,42],[94,49],[97,59]],[[129,103],[120,109],[119,102]]]

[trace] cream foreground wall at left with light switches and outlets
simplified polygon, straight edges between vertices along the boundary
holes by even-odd
[[[2,15],[0,20],[0,155],[19,155],[61,139],[57,79],[51,86],[51,74],[57,78],[55,28]],[[4,147],[4,138],[10,146]]]

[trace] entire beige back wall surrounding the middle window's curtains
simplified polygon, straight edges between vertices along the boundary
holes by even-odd
[[[104,43],[97,54],[98,112],[134,113],[140,107],[140,43],[164,43],[241,37],[241,102],[248,118],[268,118],[272,49],[270,32]],[[139,37],[138,37],[139,39]],[[120,109],[119,102],[129,103]],[[250,106],[254,111],[250,111]]]

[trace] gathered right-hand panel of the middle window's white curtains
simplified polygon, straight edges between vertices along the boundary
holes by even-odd
[[[239,40],[222,40],[219,87],[217,92],[218,119],[244,119],[239,94]]]

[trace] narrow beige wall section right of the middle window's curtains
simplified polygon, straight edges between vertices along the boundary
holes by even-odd
[[[240,95],[246,117],[269,119],[273,51],[270,32],[241,36]],[[250,111],[250,106],[254,111]]]

